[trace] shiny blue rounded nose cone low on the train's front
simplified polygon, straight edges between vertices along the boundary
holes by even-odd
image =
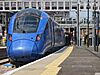
[[[13,58],[30,57],[32,53],[37,54],[37,48],[35,43],[29,40],[18,40],[10,46],[9,55]]]

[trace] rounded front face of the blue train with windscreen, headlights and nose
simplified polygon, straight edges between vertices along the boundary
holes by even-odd
[[[10,20],[7,36],[7,54],[11,61],[30,62],[38,58],[38,34],[41,12],[27,9]],[[42,47],[42,43],[41,43]]]

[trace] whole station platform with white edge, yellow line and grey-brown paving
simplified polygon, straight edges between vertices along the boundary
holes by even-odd
[[[100,58],[88,49],[63,47],[53,54],[3,75],[100,75]]]

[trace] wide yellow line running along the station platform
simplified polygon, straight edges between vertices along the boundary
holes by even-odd
[[[60,57],[48,64],[46,70],[41,75],[57,75],[61,67],[58,67],[73,51],[73,46],[68,47]]]

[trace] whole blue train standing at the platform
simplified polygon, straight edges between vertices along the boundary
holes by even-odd
[[[47,13],[28,8],[12,16],[7,34],[11,62],[29,62],[64,45],[63,29]]]

